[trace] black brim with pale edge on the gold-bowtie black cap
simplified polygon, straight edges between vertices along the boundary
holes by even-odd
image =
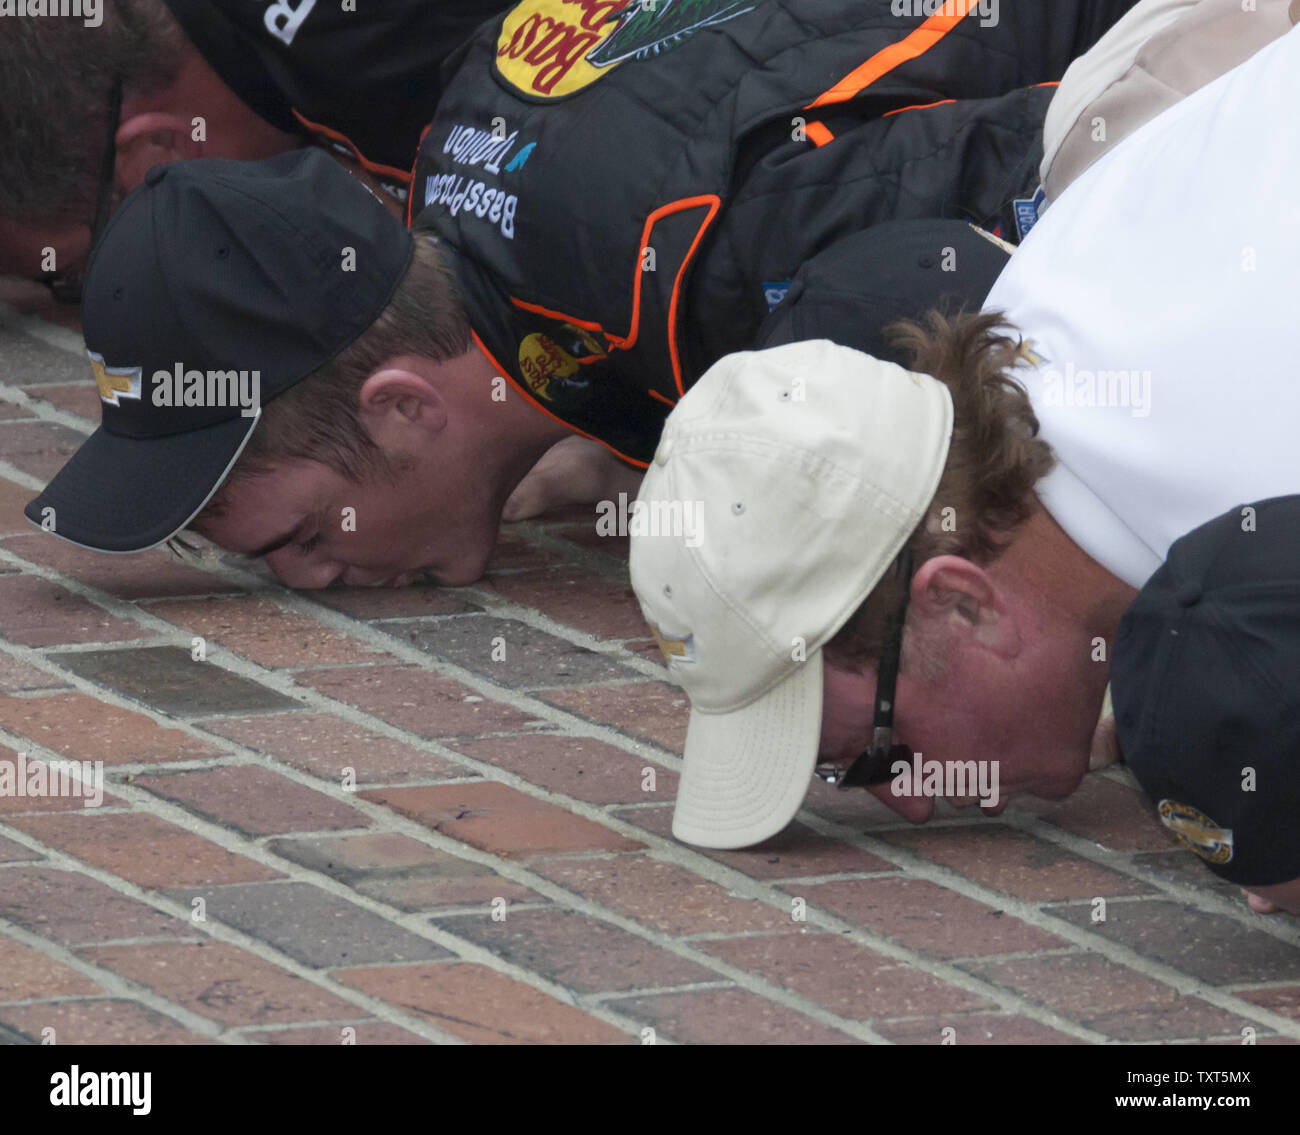
[[[125,438],[100,426],[23,512],[47,532],[96,551],[155,547],[208,503],[260,417],[259,410],[254,417],[160,438]]]

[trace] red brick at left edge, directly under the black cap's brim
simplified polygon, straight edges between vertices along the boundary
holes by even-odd
[[[162,549],[134,555],[104,555],[44,532],[32,532],[30,524],[26,528],[22,536],[4,541],[9,551],[121,599],[203,595],[238,588]],[[144,632],[136,633],[143,636]]]

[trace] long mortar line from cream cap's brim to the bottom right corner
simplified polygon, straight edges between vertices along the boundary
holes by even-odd
[[[1002,896],[989,888],[974,883],[963,875],[959,875],[957,871],[931,863],[920,855],[905,852],[904,849],[887,844],[883,840],[874,840],[867,836],[859,836],[854,832],[844,832],[840,829],[838,824],[829,820],[822,820],[819,818],[812,818],[812,820],[815,820],[815,829],[823,835],[831,835],[836,839],[852,842],[854,846],[898,863],[918,879],[936,883],[948,891],[965,894],[967,898],[972,898],[984,906],[993,906],[994,909],[1002,910],[1006,914],[1019,918],[1022,922],[1027,922],[1030,926],[1046,931],[1057,937],[1063,937],[1075,945],[1080,945],[1087,950],[1101,954],[1108,961],[1115,962],[1128,970],[1134,970],[1135,972],[1152,978],[1161,984],[1169,985],[1182,996],[1191,995],[1200,997],[1202,1001],[1208,1001],[1218,1009],[1223,1009],[1225,1011],[1245,1018],[1253,1023],[1265,1024],[1283,1036],[1300,1037],[1300,1022],[1297,1021],[1291,1021],[1277,1013],[1261,1009],[1258,1005],[1239,1001],[1231,995],[1225,995],[1216,987],[1209,985],[1197,978],[1174,970],[1171,966],[1154,961],[1153,958],[1143,957],[1128,946],[1109,941],[1108,939],[1093,935],[1086,930],[1080,930],[1065,919],[1056,918],[1050,914],[1043,914],[1034,904]],[[814,827],[814,823],[810,822],[810,827]],[[809,910],[811,913],[811,904]]]

